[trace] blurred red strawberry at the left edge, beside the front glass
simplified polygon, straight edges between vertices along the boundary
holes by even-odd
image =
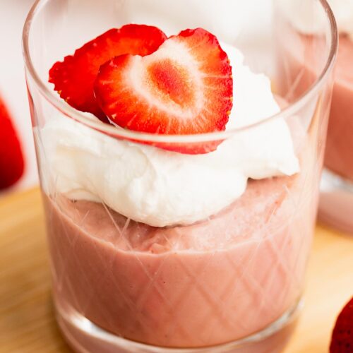
[[[24,162],[20,141],[4,102],[0,99],[0,190],[20,179]]]

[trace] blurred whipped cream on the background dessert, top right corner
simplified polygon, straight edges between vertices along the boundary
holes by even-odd
[[[299,32],[312,34],[323,32],[325,12],[319,1],[279,0],[288,20]],[[328,0],[333,10],[340,33],[345,33],[353,40],[353,0]]]

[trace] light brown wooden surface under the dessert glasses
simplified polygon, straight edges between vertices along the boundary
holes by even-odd
[[[353,237],[318,226],[306,302],[285,353],[328,352],[337,313],[353,294]],[[40,191],[0,200],[0,352],[71,352],[54,320]]]

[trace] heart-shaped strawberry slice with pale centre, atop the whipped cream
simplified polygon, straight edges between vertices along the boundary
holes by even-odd
[[[223,131],[232,109],[232,67],[214,35],[202,28],[184,30],[153,54],[116,56],[102,65],[95,96],[114,124],[130,130]],[[215,150],[219,143],[157,146],[195,154]]]

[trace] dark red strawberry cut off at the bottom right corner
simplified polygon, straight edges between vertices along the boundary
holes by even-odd
[[[330,353],[353,352],[353,297],[337,318],[330,345]]]

